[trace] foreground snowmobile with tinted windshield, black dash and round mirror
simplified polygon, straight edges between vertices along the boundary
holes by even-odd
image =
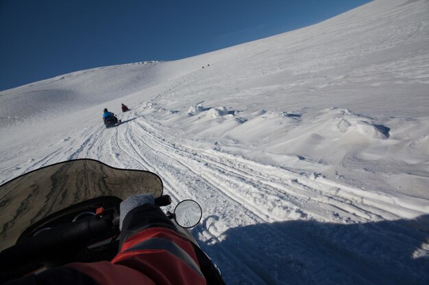
[[[6,182],[0,186],[0,283],[69,262],[112,260],[119,250],[119,204],[151,193],[155,204],[169,206],[162,189],[157,174],[93,159],[56,163]],[[225,284],[189,231],[202,217],[199,204],[184,200],[165,215],[195,247],[207,284]]]

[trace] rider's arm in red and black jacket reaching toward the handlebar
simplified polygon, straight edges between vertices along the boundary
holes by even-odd
[[[121,226],[119,253],[111,262],[71,263],[11,284],[206,284],[193,245],[158,206],[121,204]]]

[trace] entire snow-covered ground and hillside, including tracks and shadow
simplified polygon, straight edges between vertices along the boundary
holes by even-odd
[[[77,158],[197,200],[227,284],[429,284],[429,1],[0,92],[1,183]]]

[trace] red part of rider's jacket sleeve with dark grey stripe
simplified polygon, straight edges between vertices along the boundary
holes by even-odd
[[[148,228],[132,236],[111,262],[71,263],[67,267],[101,285],[206,284],[193,245],[165,228]]]

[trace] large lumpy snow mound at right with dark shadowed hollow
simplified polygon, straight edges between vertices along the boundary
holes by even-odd
[[[271,116],[273,115],[265,114],[257,118]],[[273,125],[266,134],[270,142],[265,151],[271,155],[299,154],[313,157],[322,164],[341,161],[352,155],[352,149],[356,147],[380,146],[382,141],[387,141],[391,131],[380,119],[335,107],[321,110],[314,118],[302,119],[288,113],[283,113],[281,117],[284,120],[271,119],[270,124],[275,122],[278,125],[282,122],[282,128],[277,126],[275,131],[285,135],[279,139],[272,135]],[[267,127],[264,126],[262,130],[267,130]]]

